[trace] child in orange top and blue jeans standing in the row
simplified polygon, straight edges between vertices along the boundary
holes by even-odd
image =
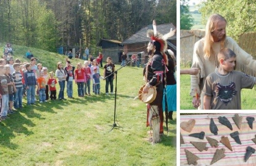
[[[39,102],[40,103],[43,103],[46,101],[45,100],[46,99],[46,95],[45,95],[46,81],[45,81],[45,78],[43,75],[44,75],[43,70],[40,70],[39,77],[37,78],[37,89],[39,91]]]

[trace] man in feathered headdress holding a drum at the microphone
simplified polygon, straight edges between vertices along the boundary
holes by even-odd
[[[167,48],[167,42],[163,39],[163,35],[156,31],[156,21],[153,21],[153,29],[147,31],[147,37],[150,42],[147,46],[149,55],[146,67],[146,86],[143,93],[147,93],[151,86],[156,86],[157,96],[150,104],[148,104],[147,126],[152,128],[152,137],[149,141],[152,144],[159,143],[160,133],[163,133],[163,89],[165,66],[168,64],[167,56],[164,51]]]

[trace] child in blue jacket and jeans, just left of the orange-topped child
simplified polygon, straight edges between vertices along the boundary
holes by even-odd
[[[32,70],[32,64],[26,64],[26,71],[24,72],[25,87],[27,89],[27,104],[35,104],[35,89],[37,86],[36,74]]]

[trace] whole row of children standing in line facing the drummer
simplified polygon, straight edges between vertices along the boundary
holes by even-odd
[[[36,94],[39,95],[39,102],[43,103],[57,99],[56,84],[60,86],[58,99],[64,98],[65,81],[67,82],[67,96],[73,98],[73,80],[78,85],[79,97],[90,94],[90,80],[93,80],[93,92],[95,95],[100,93],[100,78],[106,78],[106,94],[108,95],[108,86],[110,84],[111,94],[113,94],[113,79],[115,65],[111,58],[107,58],[107,64],[104,66],[104,76],[99,74],[99,67],[95,61],[89,66],[85,61],[84,66],[78,63],[73,67],[67,62],[65,68],[59,62],[57,70],[54,72],[47,71],[42,64],[37,64],[36,58],[31,58],[30,63],[20,64],[19,60],[11,64],[6,64],[5,59],[0,59],[0,98],[1,113],[0,120],[5,120],[8,114],[13,112],[13,103],[15,109],[22,108],[22,97],[27,95],[27,105],[33,105],[36,101]],[[13,71],[11,70],[13,68]],[[55,78],[55,75],[58,79]],[[48,95],[50,93],[50,95]]]

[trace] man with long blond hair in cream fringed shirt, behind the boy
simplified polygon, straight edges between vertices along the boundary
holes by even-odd
[[[203,109],[203,94],[201,90],[206,77],[219,66],[217,55],[222,48],[229,48],[237,54],[237,69],[249,75],[256,71],[256,61],[245,52],[231,37],[226,36],[227,21],[219,14],[209,17],[206,24],[206,35],[194,45],[192,68],[198,68],[197,75],[191,75],[192,103],[194,107]]]

